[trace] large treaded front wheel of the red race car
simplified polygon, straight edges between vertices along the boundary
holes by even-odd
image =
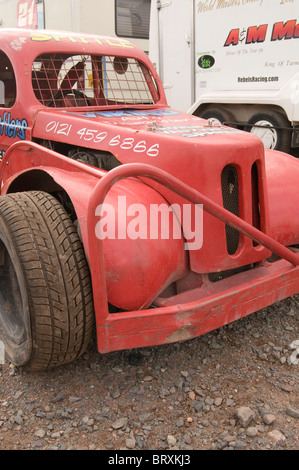
[[[61,204],[41,191],[0,197],[0,340],[17,367],[78,358],[93,329],[90,273]]]

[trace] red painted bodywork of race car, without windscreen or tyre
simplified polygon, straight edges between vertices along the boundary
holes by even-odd
[[[189,340],[299,292],[298,254],[286,248],[299,244],[298,160],[265,152],[249,133],[172,110],[147,55],[129,41],[2,30],[0,49],[18,90],[11,108],[0,107],[1,194],[55,188],[69,196],[90,266],[99,352]],[[33,93],[31,71],[36,57],[50,53],[136,58],[153,77],[158,98],[150,105],[44,106]],[[43,141],[106,152],[120,166],[107,172]],[[240,218],[223,210],[221,175],[228,165],[238,169]],[[253,165],[258,228],[252,225]],[[120,194],[146,207],[203,204],[202,246],[185,250],[183,234],[178,240],[99,240],[96,208],[103,201],[115,207]],[[240,231],[233,256],[225,224]],[[269,263],[272,252],[281,259]],[[209,280],[210,273],[244,266],[251,269]],[[110,313],[109,303],[120,311]]]

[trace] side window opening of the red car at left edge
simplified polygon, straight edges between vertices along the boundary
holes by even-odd
[[[0,51],[0,107],[11,108],[16,101],[17,87],[9,58]]]

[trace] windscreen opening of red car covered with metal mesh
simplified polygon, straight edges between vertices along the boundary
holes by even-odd
[[[134,58],[88,55],[43,55],[32,67],[32,86],[45,106],[154,104],[155,81]]]

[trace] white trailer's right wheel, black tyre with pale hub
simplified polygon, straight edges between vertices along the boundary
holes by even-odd
[[[254,127],[254,126],[263,127]],[[288,153],[291,149],[291,125],[287,118],[275,112],[257,113],[252,116],[245,131],[257,135],[266,149]]]

